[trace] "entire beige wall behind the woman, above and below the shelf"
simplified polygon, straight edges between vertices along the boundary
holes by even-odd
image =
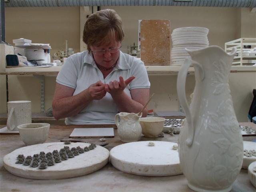
[[[122,17],[125,28],[125,39],[122,51],[134,42],[138,44],[138,19],[169,19],[171,30],[184,26],[203,26],[210,29],[208,39],[210,45],[224,48],[224,43],[248,32],[256,37],[255,30],[247,30],[255,26],[255,13],[247,8],[215,8],[215,7],[157,7],[127,6],[101,7],[113,8]],[[247,19],[246,19],[247,18]],[[80,8],[79,7],[42,7],[42,8],[6,8],[6,41],[28,38],[32,42],[50,43],[51,54],[64,49],[64,40],[75,52],[80,50]],[[245,28],[245,29],[244,29]],[[255,72],[241,73],[246,78],[240,81],[240,73],[231,74],[230,89],[236,114],[239,121],[246,121],[246,111],[252,100],[252,88],[256,88]],[[54,76],[45,77],[45,109],[51,107],[55,87]],[[179,104],[176,93],[177,75],[150,75],[151,93],[156,93],[148,108],[156,111],[177,111]],[[32,100],[32,112],[40,112],[40,80],[32,76],[8,76],[9,100]],[[188,75],[186,85],[187,98],[194,89],[194,75]],[[238,87],[238,84],[247,86]],[[238,94],[242,92],[242,94]],[[241,100],[242,98],[242,100]],[[2,100],[2,99],[1,99]]]

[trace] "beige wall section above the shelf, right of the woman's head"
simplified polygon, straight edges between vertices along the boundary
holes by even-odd
[[[168,19],[171,31],[179,27],[199,26],[209,29],[210,45],[224,48],[224,43],[236,38],[236,13],[239,8],[224,7],[178,7],[178,6],[137,6],[101,7],[112,8],[124,22],[125,38],[122,51],[127,46],[138,44],[138,19]]]

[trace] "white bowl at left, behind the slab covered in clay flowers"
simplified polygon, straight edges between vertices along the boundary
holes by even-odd
[[[28,123],[18,125],[21,140],[26,145],[44,143],[49,134],[50,124],[48,123]]]

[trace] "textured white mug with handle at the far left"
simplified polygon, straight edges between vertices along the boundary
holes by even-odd
[[[31,101],[9,101],[7,102],[7,129],[18,130],[18,125],[32,122]]]

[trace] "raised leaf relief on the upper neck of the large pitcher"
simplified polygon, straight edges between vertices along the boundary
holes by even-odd
[[[228,85],[229,66],[221,59],[219,62],[213,62],[213,66],[216,69],[214,71],[214,77],[212,78],[212,86],[215,87],[213,94],[218,95],[226,90],[230,93]]]

